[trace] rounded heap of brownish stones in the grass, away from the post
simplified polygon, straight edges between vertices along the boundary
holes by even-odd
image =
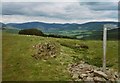
[[[56,57],[59,53],[59,47],[56,43],[45,42],[33,46],[36,50],[35,54],[32,55],[35,59],[48,59],[49,57]]]

